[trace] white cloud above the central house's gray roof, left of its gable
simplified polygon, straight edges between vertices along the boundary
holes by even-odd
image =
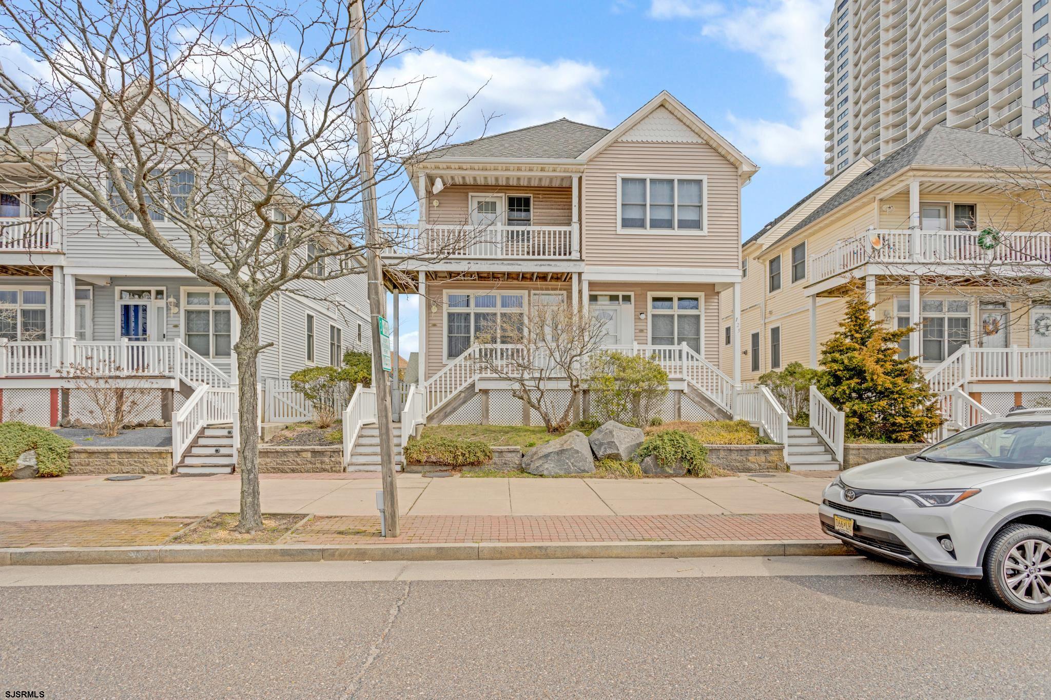
[[[502,115],[489,125],[487,133],[561,116],[588,124],[605,119],[605,109],[595,94],[605,70],[591,63],[565,59],[545,63],[487,51],[473,51],[459,59],[432,49],[406,55],[400,63],[385,69],[379,83],[401,85],[421,77],[428,80],[407,89],[415,93],[418,87],[418,104],[436,121],[450,118],[481,88],[456,118],[456,142],[481,135],[483,114]]]

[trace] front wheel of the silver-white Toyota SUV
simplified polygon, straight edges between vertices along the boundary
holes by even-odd
[[[986,586],[1001,603],[1019,613],[1051,610],[1051,532],[1007,526],[989,543],[983,568]]]

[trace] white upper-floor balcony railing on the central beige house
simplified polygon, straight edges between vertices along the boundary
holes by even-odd
[[[578,225],[440,226],[382,225],[388,256],[425,258],[580,258]]]

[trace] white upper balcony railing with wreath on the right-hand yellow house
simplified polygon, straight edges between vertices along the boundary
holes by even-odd
[[[977,231],[869,231],[837,241],[824,253],[810,256],[811,281],[834,277],[867,263],[996,263],[1044,268],[1051,276],[1051,233],[1002,234],[992,248],[978,243]]]

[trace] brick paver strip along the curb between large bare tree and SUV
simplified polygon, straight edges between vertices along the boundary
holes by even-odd
[[[830,539],[817,515],[409,515],[382,537],[375,515],[315,517],[285,542],[310,545]]]

